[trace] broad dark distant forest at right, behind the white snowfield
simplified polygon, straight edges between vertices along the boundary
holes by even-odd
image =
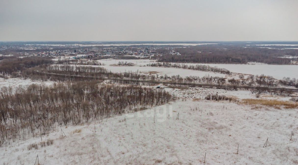
[[[246,64],[260,62],[266,64],[290,64],[291,59],[280,58],[284,55],[298,56],[298,50],[281,50],[256,47],[215,47],[195,46],[175,49],[181,55],[172,55],[168,51],[159,50],[165,55],[157,57],[160,62],[183,63],[221,63]]]

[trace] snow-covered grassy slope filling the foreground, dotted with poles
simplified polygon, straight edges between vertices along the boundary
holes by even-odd
[[[40,164],[204,164],[205,152],[206,164],[298,164],[297,109],[183,100],[80,126],[57,125],[43,136],[53,145],[28,150],[41,142],[36,137],[2,146],[0,164],[34,164],[37,155]]]

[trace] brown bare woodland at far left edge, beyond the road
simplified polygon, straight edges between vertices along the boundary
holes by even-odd
[[[4,58],[0,61],[0,74],[8,76],[13,74],[13,72],[21,72],[27,68],[50,63],[53,63],[52,59],[44,57]]]

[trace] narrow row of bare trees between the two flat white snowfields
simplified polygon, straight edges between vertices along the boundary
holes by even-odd
[[[218,68],[218,67],[212,67],[209,65],[187,65],[187,64],[171,64],[169,62],[163,62],[163,63],[150,63],[147,64],[147,66],[155,66],[155,67],[172,67],[172,68],[182,68],[182,69],[191,69],[191,70],[199,70],[204,72],[218,72],[222,74],[232,74],[228,69],[224,68]]]

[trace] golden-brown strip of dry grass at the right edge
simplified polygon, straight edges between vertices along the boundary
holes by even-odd
[[[297,108],[298,103],[293,103],[290,101],[278,101],[278,100],[265,100],[265,99],[242,99],[241,103],[250,105],[266,105],[280,109],[281,106],[285,108]]]

